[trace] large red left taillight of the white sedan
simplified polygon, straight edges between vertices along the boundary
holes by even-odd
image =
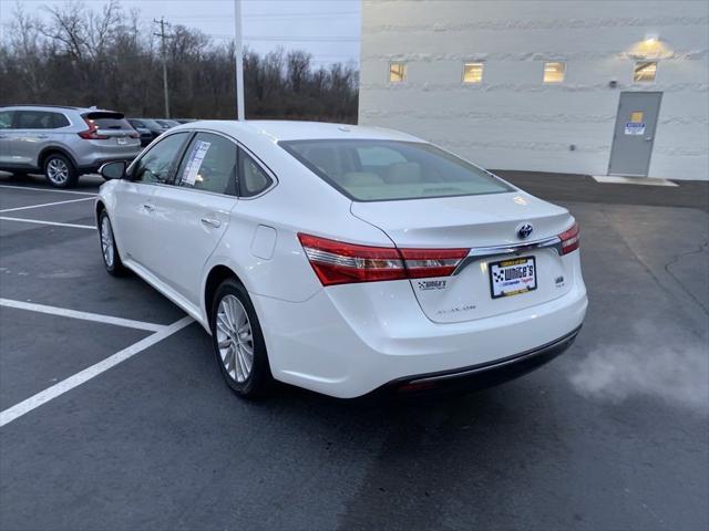
[[[299,233],[322,285],[448,277],[470,249],[397,249],[345,243]]]

